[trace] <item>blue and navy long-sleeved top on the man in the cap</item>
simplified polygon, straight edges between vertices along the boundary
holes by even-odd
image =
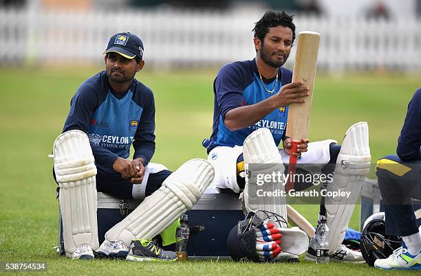
[[[133,158],[142,157],[147,165],[155,152],[153,93],[136,79],[126,93],[115,93],[101,71],[70,101],[63,132],[74,129],[87,133],[98,170],[110,172],[117,157],[128,158],[132,142]]]

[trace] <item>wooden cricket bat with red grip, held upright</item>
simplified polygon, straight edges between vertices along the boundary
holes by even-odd
[[[296,46],[294,71],[292,82],[302,80],[304,85],[309,87],[310,95],[303,104],[291,104],[288,109],[288,122],[286,136],[292,139],[291,153],[296,152],[301,139],[307,137],[308,125],[310,122],[310,110],[312,109],[312,97],[314,78],[316,76],[317,54],[319,53],[320,34],[317,32],[299,32]],[[288,181],[286,191],[294,188],[293,176],[296,170],[296,157],[290,155],[288,165]]]

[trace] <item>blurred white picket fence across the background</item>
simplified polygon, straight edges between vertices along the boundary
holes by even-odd
[[[54,12],[0,10],[0,65],[102,62],[109,37],[138,34],[149,65],[207,67],[255,55],[252,28],[262,11],[182,10]],[[421,71],[421,21],[294,19],[301,30],[321,33],[319,69]],[[294,61],[294,48],[287,66]]]

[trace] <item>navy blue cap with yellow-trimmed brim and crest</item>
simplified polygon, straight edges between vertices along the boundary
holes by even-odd
[[[138,36],[129,32],[119,32],[109,38],[107,49],[103,54],[114,51],[125,58],[135,58],[138,56],[140,59],[143,57],[143,43]]]

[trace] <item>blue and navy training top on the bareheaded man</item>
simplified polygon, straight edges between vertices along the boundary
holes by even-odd
[[[213,82],[215,94],[213,131],[207,147],[208,153],[216,146],[243,146],[244,139],[258,128],[269,128],[275,143],[279,146],[285,134],[288,106],[277,108],[256,124],[240,130],[228,130],[224,119],[226,113],[233,108],[257,104],[270,97],[272,94],[266,89],[277,93],[284,84],[291,81],[292,71],[279,67],[278,80],[275,78],[266,80],[263,87],[255,59],[224,65]]]

